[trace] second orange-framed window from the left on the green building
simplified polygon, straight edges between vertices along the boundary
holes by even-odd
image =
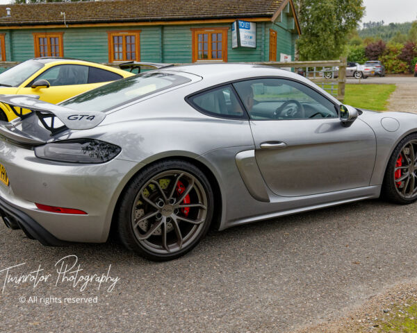
[[[63,57],[64,33],[34,33],[35,57]]]

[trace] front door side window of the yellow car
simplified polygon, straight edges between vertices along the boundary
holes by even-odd
[[[51,87],[60,85],[85,85],[88,83],[88,66],[57,65],[44,71],[36,80],[47,80]]]

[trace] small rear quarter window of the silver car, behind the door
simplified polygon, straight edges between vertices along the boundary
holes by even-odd
[[[188,102],[204,114],[222,118],[247,118],[231,85],[201,92],[188,98]]]

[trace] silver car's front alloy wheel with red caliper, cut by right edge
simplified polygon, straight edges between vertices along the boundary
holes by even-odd
[[[394,168],[395,188],[401,198],[413,199],[417,196],[417,140],[402,146]],[[398,173],[398,174],[397,174]],[[399,177],[398,177],[399,176]]]

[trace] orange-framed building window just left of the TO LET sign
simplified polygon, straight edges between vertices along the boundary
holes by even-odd
[[[192,28],[193,62],[227,61],[227,29]]]

